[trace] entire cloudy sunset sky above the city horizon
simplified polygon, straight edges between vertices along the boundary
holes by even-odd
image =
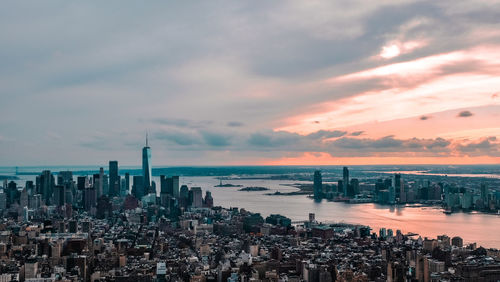
[[[0,166],[500,163],[500,1],[5,1]]]

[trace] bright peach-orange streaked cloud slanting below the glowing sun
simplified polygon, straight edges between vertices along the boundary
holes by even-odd
[[[323,102],[318,112],[290,117],[276,130],[307,134],[325,128],[500,105],[499,99],[492,98],[492,93],[500,89],[497,50],[489,46],[456,51],[330,78],[324,84],[337,89],[367,81],[372,81],[372,86],[354,96]]]

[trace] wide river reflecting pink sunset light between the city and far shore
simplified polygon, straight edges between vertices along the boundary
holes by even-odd
[[[155,179],[158,181],[157,179]],[[460,236],[465,242],[477,242],[478,246],[500,248],[500,216],[482,213],[444,214],[437,207],[390,207],[377,204],[346,204],[341,202],[315,202],[307,196],[269,196],[275,191],[290,192],[296,188],[280,184],[307,183],[286,180],[232,179],[227,183],[243,186],[268,187],[270,191],[242,192],[238,187],[214,187],[219,180],[214,177],[181,177],[181,184],[208,189],[214,204],[224,207],[245,208],[260,212],[263,216],[279,213],[293,221],[305,220],[310,212],[318,221],[347,222],[369,225],[373,231],[386,227],[394,230],[418,233],[422,237],[447,234]]]

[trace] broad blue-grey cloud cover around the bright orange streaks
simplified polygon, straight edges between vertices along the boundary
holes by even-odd
[[[30,164],[27,160],[45,151],[50,154],[40,158],[55,164],[94,163],[105,157],[103,150],[114,149],[126,138],[127,144],[142,144],[146,130],[154,132],[165,154],[176,154],[175,158],[183,157],[179,151],[187,156],[187,150],[222,148],[242,157],[255,157],[248,152],[277,156],[274,150],[352,155],[358,154],[356,150],[445,150],[452,144],[445,146],[446,141],[438,139],[358,139],[346,136],[358,137],[362,131],[339,130],[302,136],[271,129],[292,115],[367,90],[416,87],[470,69],[495,71],[464,60],[420,78],[316,86],[323,79],[387,62],[498,44],[497,36],[471,40],[475,32],[498,29],[500,9],[489,6],[399,0],[355,0],[349,5],[282,0],[144,5],[44,1],[26,9],[24,3],[10,1],[0,10],[2,136],[30,140],[57,125],[62,138],[40,138],[29,150],[3,146],[0,161]],[[415,21],[421,23],[409,24]],[[430,44],[387,62],[373,60],[391,40]],[[95,130],[129,135],[82,137],[93,136]],[[229,135],[225,130],[238,132]],[[53,153],[73,150],[72,159]],[[467,147],[462,150],[465,153]],[[129,152],[120,154],[113,158],[125,159]],[[218,160],[210,157],[207,162]]]

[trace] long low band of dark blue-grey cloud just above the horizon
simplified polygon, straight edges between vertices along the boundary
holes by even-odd
[[[354,135],[353,135],[354,133]],[[393,135],[380,138],[359,138],[362,132],[321,130],[308,135],[286,131],[237,132],[233,135],[217,130],[195,130],[190,133],[161,132],[156,138],[179,145],[179,150],[232,152],[290,152],[327,153],[338,157],[380,156],[485,156],[495,155],[498,142],[494,137],[485,140],[461,141],[444,138],[407,138]],[[358,134],[359,135],[356,135]]]

